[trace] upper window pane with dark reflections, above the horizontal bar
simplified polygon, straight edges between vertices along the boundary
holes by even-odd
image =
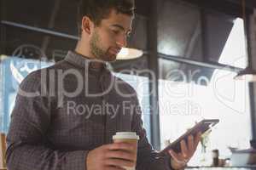
[[[160,0],[158,52],[245,68],[243,20],[188,2]]]

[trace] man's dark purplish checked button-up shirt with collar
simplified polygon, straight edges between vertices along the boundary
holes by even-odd
[[[140,137],[137,170],[171,169],[170,157],[148,143],[141,116],[128,83],[70,51],[21,82],[7,135],[8,169],[86,170],[88,152],[120,131]]]

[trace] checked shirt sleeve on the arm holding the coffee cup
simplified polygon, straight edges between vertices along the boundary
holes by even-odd
[[[50,101],[41,93],[40,82],[40,74],[33,72],[20,84],[7,134],[8,169],[86,170],[87,150],[52,150],[44,142]]]

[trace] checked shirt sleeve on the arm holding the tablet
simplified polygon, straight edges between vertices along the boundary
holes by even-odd
[[[146,130],[143,128],[142,111],[137,97],[136,111],[133,112],[132,131],[136,132],[140,139],[137,152],[137,170],[171,170],[171,157],[160,156],[148,143]]]

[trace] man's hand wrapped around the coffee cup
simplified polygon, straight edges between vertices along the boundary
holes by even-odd
[[[122,167],[132,167],[136,160],[131,150],[136,150],[127,143],[106,144],[88,153],[87,170],[124,170]]]

